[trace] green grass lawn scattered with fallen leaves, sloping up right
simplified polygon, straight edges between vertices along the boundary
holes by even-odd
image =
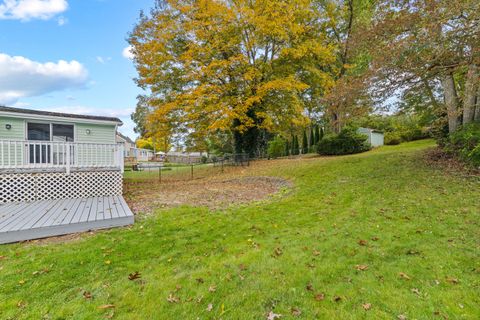
[[[479,319],[480,180],[425,165],[432,146],[262,161],[238,174],[293,190],[0,246],[0,318]]]

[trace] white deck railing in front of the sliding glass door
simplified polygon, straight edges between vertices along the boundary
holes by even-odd
[[[0,169],[123,171],[123,144],[0,140]]]

